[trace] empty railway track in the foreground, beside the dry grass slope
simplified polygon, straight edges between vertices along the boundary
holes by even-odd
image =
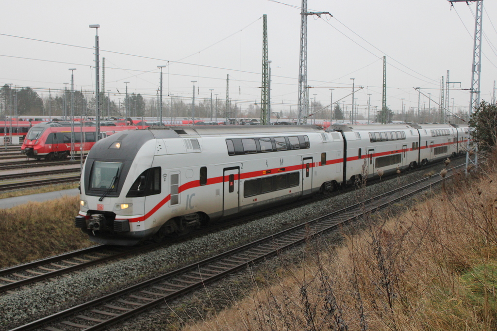
[[[448,178],[451,175],[447,175]],[[85,302],[13,330],[101,330],[193,289],[219,280],[248,265],[289,250],[310,237],[331,231],[341,224],[391,205],[440,183],[440,176],[423,178],[380,196],[256,240],[223,254],[168,272],[126,289]]]

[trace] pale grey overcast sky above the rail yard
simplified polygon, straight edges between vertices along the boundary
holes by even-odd
[[[69,68],[77,68],[75,89],[94,90],[95,29],[88,26],[100,24],[100,66],[105,58],[105,90],[116,102],[124,97],[125,81],[129,93],[156,98],[157,66],[167,65],[165,96],[191,102],[191,81],[196,80],[196,98],[210,98],[213,89],[224,100],[228,74],[231,102],[246,109],[260,102],[262,15],[267,14],[272,110],[295,111],[300,6],[299,0],[2,1],[0,83],[30,86],[47,96],[48,89],[56,94],[70,83]],[[476,3],[458,2],[451,9],[447,0],[308,0],[308,10],[333,15],[308,18],[313,100],[328,105],[330,88],[334,101],[346,96],[353,77],[355,86],[364,87],[355,93],[359,111],[366,111],[368,94],[371,104],[381,107],[386,56],[392,110],[401,110],[402,99],[406,109],[417,108],[418,86],[438,102],[447,70],[451,82],[460,82],[451,85],[449,98],[456,109],[467,109],[469,92],[461,89],[471,87]],[[497,1],[484,1],[485,100],[492,98],[497,79],[496,18]],[[429,103],[435,107],[421,95],[421,107]]]

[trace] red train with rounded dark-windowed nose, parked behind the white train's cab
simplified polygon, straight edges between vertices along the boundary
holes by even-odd
[[[115,132],[138,130],[135,126],[100,127],[100,138]],[[84,134],[82,134],[82,131]],[[95,144],[95,127],[74,127],[74,153],[86,154]],[[38,124],[27,132],[21,146],[27,157],[46,160],[62,159],[71,154],[71,127]]]

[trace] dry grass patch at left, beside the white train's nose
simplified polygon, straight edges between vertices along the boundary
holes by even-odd
[[[74,226],[78,197],[0,209],[0,268],[91,246]]]

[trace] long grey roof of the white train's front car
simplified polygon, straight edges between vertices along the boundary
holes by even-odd
[[[179,136],[184,135],[195,135],[195,136],[206,136],[206,135],[242,135],[242,134],[278,134],[278,133],[309,133],[309,132],[323,132],[318,126],[314,125],[296,125],[296,126],[273,126],[273,125],[254,125],[254,126],[239,126],[239,125],[227,125],[227,126],[181,126],[181,127],[150,127],[148,129],[152,131],[155,136],[161,136],[164,132],[172,131]],[[160,133],[164,131],[163,133]],[[166,134],[168,135],[168,134]]]

